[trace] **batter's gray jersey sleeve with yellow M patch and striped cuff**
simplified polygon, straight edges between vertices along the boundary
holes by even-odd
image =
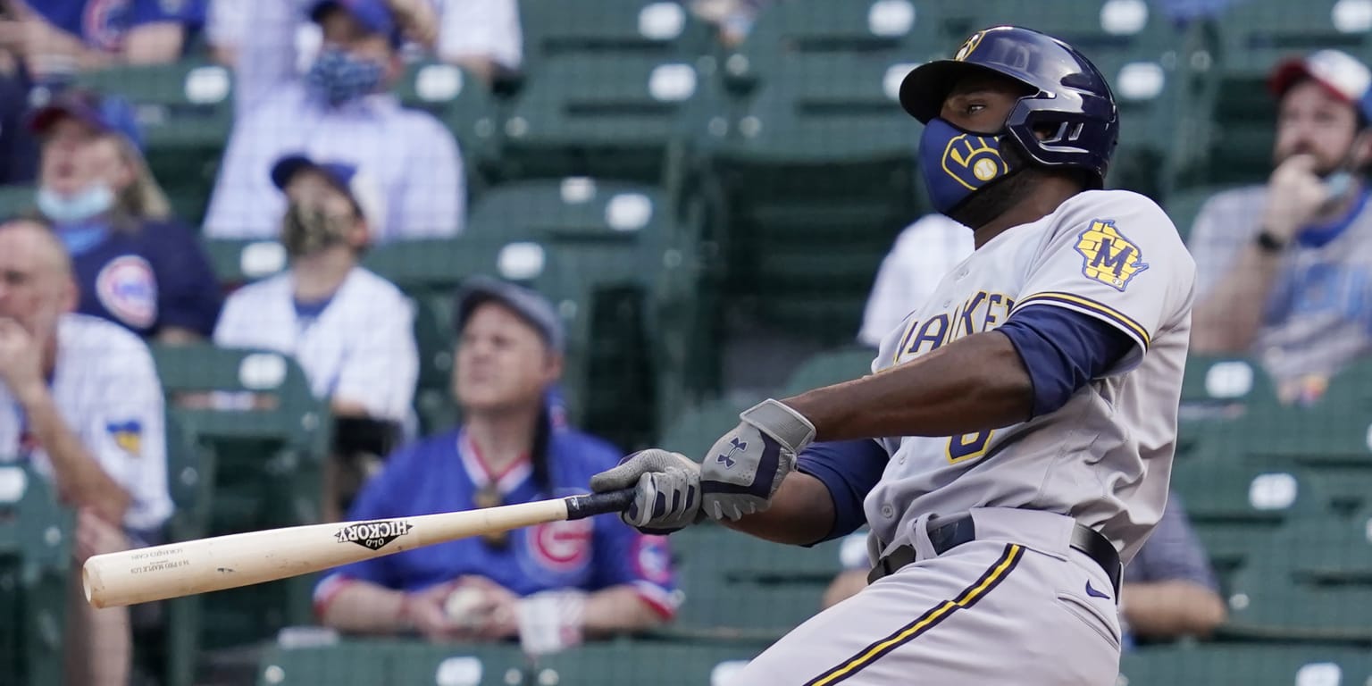
[[[1190,306],[1195,263],[1161,207],[1132,193],[1111,200],[1063,214],[1030,259],[1011,317],[1050,306],[1102,320],[1135,343],[1114,369],[1124,372]]]

